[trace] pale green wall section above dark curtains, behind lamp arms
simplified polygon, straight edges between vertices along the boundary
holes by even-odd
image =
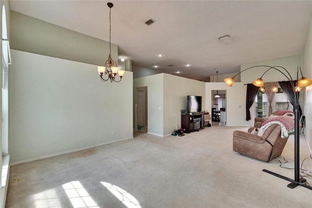
[[[268,66],[282,66],[284,67],[291,75],[292,80],[297,79],[297,67],[303,66],[303,55],[295,55],[289,57],[283,57],[279,59],[266,60],[262,62],[246,63],[240,66],[240,71],[247,69],[251,66],[256,65],[268,65]],[[268,67],[255,67],[248,69],[240,74],[241,82],[244,83],[253,83],[254,80],[260,78],[261,75],[268,69]],[[283,72],[287,73],[282,69]],[[263,82],[277,82],[277,81],[288,81],[288,79],[279,71],[271,69],[263,77]]]

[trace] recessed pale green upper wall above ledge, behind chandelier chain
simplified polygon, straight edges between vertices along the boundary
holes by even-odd
[[[15,11],[11,11],[10,30],[12,49],[95,65],[104,65],[109,55],[109,42]],[[117,62],[118,47],[111,46]]]

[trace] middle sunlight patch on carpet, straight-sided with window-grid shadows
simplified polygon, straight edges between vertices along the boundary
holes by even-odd
[[[74,208],[99,208],[79,181],[63,184],[62,187]]]

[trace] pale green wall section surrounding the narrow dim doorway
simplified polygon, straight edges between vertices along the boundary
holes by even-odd
[[[164,135],[164,116],[163,116],[163,97],[164,97],[164,74],[137,78],[133,80],[133,101],[134,111],[137,104],[137,87],[147,86],[147,116],[148,116],[148,133],[157,136]],[[135,116],[134,116],[135,118]],[[136,128],[136,126],[134,126]]]

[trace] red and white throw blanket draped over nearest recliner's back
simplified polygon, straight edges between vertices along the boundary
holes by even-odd
[[[270,125],[278,124],[282,127],[281,138],[287,138],[294,133],[294,119],[291,116],[276,116],[263,122],[260,130],[265,131]]]

